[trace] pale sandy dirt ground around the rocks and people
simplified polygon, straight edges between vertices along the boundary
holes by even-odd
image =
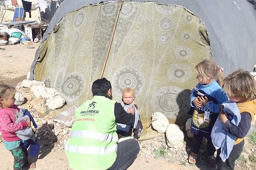
[[[36,49],[40,43],[33,43],[34,49],[28,49],[24,44],[0,46],[5,50],[0,50],[0,80],[5,84],[16,86],[23,79],[26,79],[27,73],[30,71],[31,64],[34,60]],[[38,108],[39,109],[39,108]],[[0,139],[2,137],[0,136]],[[247,144],[248,145],[248,142]],[[55,148],[44,144],[40,141],[40,154],[36,161],[35,170],[72,170],[69,168],[68,160],[65,152],[59,151]],[[249,145],[248,145],[249,146]],[[250,146],[250,149],[252,147]],[[12,170],[13,157],[9,151],[5,149],[5,145],[0,140],[0,170]],[[171,163],[166,159],[154,157],[145,158],[145,156],[138,156],[135,162],[128,168],[128,170],[214,170],[214,167],[207,167],[202,165],[178,165],[178,163]],[[240,170],[245,170],[239,167]]]

